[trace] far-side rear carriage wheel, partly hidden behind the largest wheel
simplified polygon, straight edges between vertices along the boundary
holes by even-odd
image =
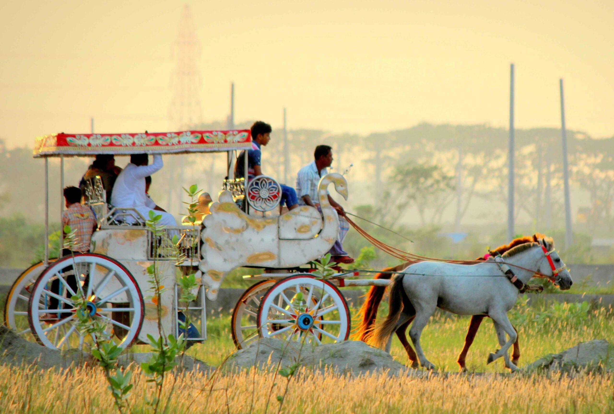
[[[55,259],[50,259],[53,263]],[[4,302],[4,324],[25,339],[34,340],[28,322],[28,301],[36,278],[45,270],[43,262],[33,264],[21,272],[10,286]]]

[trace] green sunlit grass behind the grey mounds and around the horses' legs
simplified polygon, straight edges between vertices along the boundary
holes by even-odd
[[[355,315],[356,310],[352,313]],[[386,304],[383,303],[379,314],[385,316],[386,313]],[[525,297],[510,312],[510,319],[518,329],[522,354],[520,367],[548,353],[559,353],[586,340],[605,339],[614,344],[614,312],[605,308],[591,309],[588,303],[528,306]],[[459,369],[456,359],[463,347],[469,320],[468,316],[438,312],[424,329],[422,348],[438,369],[453,372]],[[230,335],[230,316],[222,314],[209,318],[208,334],[207,342],[193,346],[188,353],[218,366],[226,355],[235,350]],[[146,349],[141,346],[135,348]],[[486,365],[488,354],[497,348],[499,344],[494,327],[486,319],[468,353],[467,369],[475,372],[507,372],[502,359]],[[405,350],[396,337],[392,342],[391,353],[397,361],[407,364]]]

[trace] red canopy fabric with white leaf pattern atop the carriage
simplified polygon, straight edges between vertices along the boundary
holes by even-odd
[[[144,132],[141,134],[50,134],[34,143],[34,158],[96,154],[170,154],[244,150],[249,129],[236,131]]]

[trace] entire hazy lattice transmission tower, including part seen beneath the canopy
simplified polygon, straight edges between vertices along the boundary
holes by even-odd
[[[198,37],[196,37],[196,26],[192,12],[190,6],[185,4],[181,18],[179,18],[177,37],[173,43],[173,55],[176,64],[171,77],[173,99],[168,108],[169,127],[173,131],[190,129],[203,121],[200,102],[201,74],[196,64],[200,52],[201,47]],[[176,209],[173,206],[179,201],[181,192],[177,191],[175,187],[181,188],[185,185],[183,182],[185,160],[182,155],[179,159],[169,161],[171,162],[168,165],[170,179],[167,210],[170,213],[176,213],[180,210],[181,203],[177,205]],[[174,183],[175,175],[177,175],[177,184]]]

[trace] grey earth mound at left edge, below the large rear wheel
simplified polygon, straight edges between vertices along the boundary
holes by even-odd
[[[95,359],[85,352],[46,348],[21,338],[6,326],[0,326],[0,361],[12,366],[33,365],[41,369],[96,364]]]

